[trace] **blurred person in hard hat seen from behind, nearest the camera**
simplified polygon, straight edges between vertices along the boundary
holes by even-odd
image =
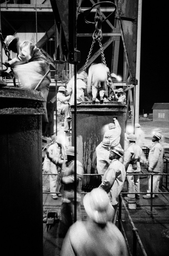
[[[77,221],[70,227],[60,256],[127,256],[124,237],[111,222],[114,209],[107,193],[93,189],[83,202],[87,221]]]

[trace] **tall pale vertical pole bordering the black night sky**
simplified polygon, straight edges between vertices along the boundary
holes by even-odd
[[[137,52],[136,52],[136,79],[138,84],[135,86],[135,122],[139,123],[139,94],[140,94],[140,55],[141,55],[141,14],[142,0],[138,0],[138,17],[137,17]]]

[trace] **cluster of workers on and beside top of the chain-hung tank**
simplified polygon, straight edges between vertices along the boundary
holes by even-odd
[[[85,101],[95,103],[100,101],[116,101],[126,103],[126,96],[122,88],[115,93],[113,81],[116,81],[115,74],[108,73],[109,68],[103,64],[93,64],[90,66],[88,75],[85,71],[77,74],[77,105]],[[111,76],[112,75],[112,76]],[[64,131],[71,132],[71,112],[70,106],[74,105],[75,89],[74,76],[68,82],[66,88],[59,86],[57,93],[57,111],[65,117]],[[65,96],[67,92],[68,96]]]

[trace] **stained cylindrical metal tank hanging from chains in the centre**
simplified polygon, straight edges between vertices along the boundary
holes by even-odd
[[[74,107],[72,113],[72,146],[74,146]],[[77,151],[78,160],[83,163],[85,173],[92,174],[96,170],[96,147],[103,140],[104,133],[108,129],[108,124],[114,122],[116,117],[121,126],[120,144],[124,148],[125,133],[125,113],[126,105],[118,102],[105,102],[103,104],[92,104],[84,102],[77,105]],[[89,184],[97,178],[88,176],[84,183]]]

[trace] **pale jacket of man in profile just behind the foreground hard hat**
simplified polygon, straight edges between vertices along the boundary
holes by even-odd
[[[123,188],[125,176],[124,165],[117,159],[113,159],[99,186],[99,188],[104,189],[108,193],[112,205],[118,204],[118,195]]]

